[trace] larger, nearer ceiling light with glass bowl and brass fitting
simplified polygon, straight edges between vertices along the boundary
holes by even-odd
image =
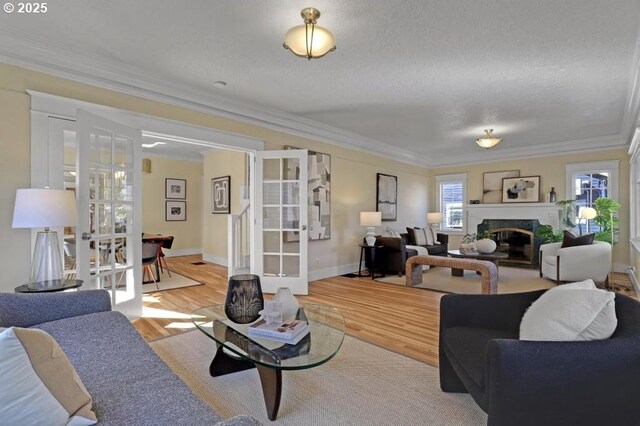
[[[304,25],[298,25],[287,31],[282,46],[296,56],[308,60],[322,58],[336,50],[336,39],[325,28],[316,25],[320,11],[313,7],[302,9],[300,16]]]

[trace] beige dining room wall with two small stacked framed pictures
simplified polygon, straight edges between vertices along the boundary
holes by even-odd
[[[202,251],[202,162],[146,156],[151,173],[142,175],[142,231],[175,237],[169,256]],[[165,179],[186,179],[187,220],[165,220]],[[175,200],[182,201],[182,200]]]

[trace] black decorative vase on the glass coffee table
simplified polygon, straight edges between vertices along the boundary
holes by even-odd
[[[233,275],[229,278],[224,312],[238,324],[247,324],[260,317],[264,309],[264,296],[260,287],[260,277],[253,274]]]

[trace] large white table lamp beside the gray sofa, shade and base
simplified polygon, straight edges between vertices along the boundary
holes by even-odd
[[[29,283],[59,280],[64,273],[58,233],[50,227],[76,226],[78,211],[72,191],[64,189],[18,189],[13,209],[13,228],[44,228],[33,250]]]

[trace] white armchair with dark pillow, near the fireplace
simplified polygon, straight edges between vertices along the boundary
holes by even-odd
[[[591,278],[609,286],[611,244],[594,241],[586,246],[560,248],[562,243],[540,246],[540,276],[561,281],[582,281]]]

